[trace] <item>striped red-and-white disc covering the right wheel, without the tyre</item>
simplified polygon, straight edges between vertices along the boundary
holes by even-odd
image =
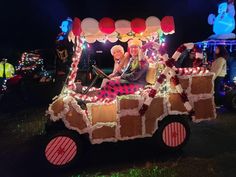
[[[186,139],[186,129],[179,122],[171,122],[164,128],[162,139],[166,146],[177,147]]]

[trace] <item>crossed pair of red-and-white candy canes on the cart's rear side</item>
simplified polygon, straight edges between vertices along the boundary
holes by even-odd
[[[148,107],[150,106],[153,98],[155,97],[156,93],[159,91],[161,84],[167,78],[167,74],[170,73],[171,78],[174,81],[176,91],[180,94],[180,97],[184,103],[186,110],[189,112],[189,115],[192,118],[194,117],[194,110],[189,103],[188,96],[184,92],[183,88],[181,87],[181,85],[179,83],[179,79],[176,76],[176,71],[178,71],[178,69],[175,68],[175,66],[174,66],[174,63],[179,59],[182,52],[186,49],[195,49],[195,51],[196,51],[195,60],[202,61],[203,54],[202,54],[201,50],[197,49],[196,45],[194,45],[193,43],[186,43],[186,44],[181,45],[177,49],[177,51],[174,53],[172,58],[170,58],[170,59],[167,59],[166,55],[164,55],[164,56],[160,55],[159,57],[165,61],[166,68],[162,71],[161,75],[158,77],[157,82],[154,85],[154,87],[150,90],[148,97],[144,100],[144,103],[143,103],[141,109],[139,110],[140,115],[145,114],[145,112],[147,111]]]

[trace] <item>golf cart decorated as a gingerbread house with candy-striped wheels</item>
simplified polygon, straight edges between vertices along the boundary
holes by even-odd
[[[199,122],[216,117],[213,73],[203,67],[175,67],[184,50],[193,49],[195,61],[202,60],[201,50],[193,43],[183,44],[171,58],[161,50],[161,35],[173,32],[174,21],[170,16],[161,21],[151,16],[131,22],[114,22],[110,18],[99,22],[85,18],[81,22],[75,18],[69,35],[74,42],[71,73],[47,111],[50,121],[46,127],[53,134],[44,151],[49,164],[70,165],[82,155],[85,139],[100,144],[153,136],[161,148],[177,150],[189,138],[189,120]],[[134,38],[142,41],[143,53],[150,61],[148,84],[144,88],[113,99],[99,99],[100,88],[93,87],[95,81],[88,87],[76,82],[84,43],[127,42]],[[97,77],[108,78],[96,66],[93,70]]]

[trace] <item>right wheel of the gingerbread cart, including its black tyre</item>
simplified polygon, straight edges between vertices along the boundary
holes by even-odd
[[[176,151],[187,143],[190,136],[188,121],[183,116],[168,116],[158,126],[156,140],[165,151]]]

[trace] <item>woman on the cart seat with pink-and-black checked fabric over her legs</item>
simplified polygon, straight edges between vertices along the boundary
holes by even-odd
[[[120,76],[106,82],[99,92],[99,99],[115,99],[118,95],[133,94],[146,85],[148,63],[144,59],[141,47],[142,42],[132,39],[128,42],[131,58]]]

